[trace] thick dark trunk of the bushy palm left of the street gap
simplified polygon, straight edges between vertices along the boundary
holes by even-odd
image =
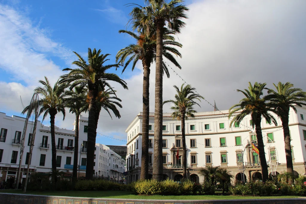
[[[95,128],[95,100],[98,90],[94,85],[88,85],[88,97],[90,98],[88,107],[88,133],[87,133],[87,157],[86,157],[86,179],[92,179],[94,174],[94,154],[95,139],[97,129]]]

